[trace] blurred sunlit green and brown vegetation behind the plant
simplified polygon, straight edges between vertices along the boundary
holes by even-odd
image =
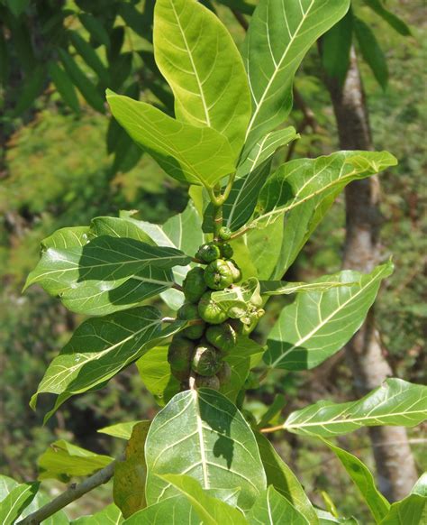
[[[361,64],[373,140],[376,149],[387,149],[399,160],[397,168],[381,177],[383,256],[393,256],[395,274],[377,300],[377,322],[395,375],[425,382],[425,6],[418,0],[390,0],[387,7],[410,24],[413,36],[404,38],[375,14],[365,13],[365,21],[380,35],[390,71],[388,88],[383,91],[368,67]],[[241,42],[244,33],[232,14],[223,6],[218,12],[236,41]],[[78,23],[76,27],[78,31]],[[138,49],[140,42],[133,36],[133,49]],[[315,134],[310,128],[304,131],[295,144],[294,157],[336,150],[332,106],[315,50],[304,60],[296,87],[318,125]],[[148,93],[142,96],[151,97]],[[41,399],[37,412],[28,406],[46,365],[82,320],[36,287],[21,294],[26,274],[38,261],[41,239],[59,227],[83,226],[93,216],[114,216],[121,209],[136,209],[144,220],[162,223],[186,206],[187,189],[168,179],[148,156],[143,155],[131,170],[123,164],[118,169],[105,145],[109,118],[95,112],[83,99],[80,102],[82,111],[76,115],[54,93],[37,100],[31,118],[16,117],[5,152],[7,174],[0,180],[0,471],[18,481],[35,478],[38,456],[62,437],[95,452],[117,454],[123,442],[97,434],[96,430],[120,421],[150,418],[157,410],[134,365],[103,390],[68,401],[44,427],[47,405]],[[298,127],[302,118],[295,110],[291,124]],[[340,198],[292,267],[292,280],[303,281],[340,269],[344,219]],[[272,301],[256,334],[260,339],[274,322],[281,304],[280,300]],[[289,400],[286,412],[319,399],[346,401],[355,397],[343,355],[307,373],[273,375],[262,390],[249,392],[247,408],[258,413],[280,391]],[[356,489],[327,451],[292,435],[275,439],[314,502],[322,502],[320,491],[325,490],[342,513],[362,516]],[[410,429],[410,439],[417,464],[425,470],[423,428]],[[364,432],[342,437],[341,443],[373,466]],[[50,491],[58,487],[58,483],[48,484]],[[93,511],[111,497],[105,487],[98,496],[79,502],[77,513]]]

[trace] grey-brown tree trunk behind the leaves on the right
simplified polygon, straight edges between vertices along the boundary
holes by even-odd
[[[368,108],[354,49],[344,86],[326,80],[332,97],[340,146],[343,150],[372,150]],[[376,177],[351,182],[345,190],[346,240],[343,267],[370,272],[379,260],[379,183]],[[360,395],[376,388],[392,375],[383,354],[374,309],[346,347],[346,358]],[[391,502],[406,496],[417,478],[405,428],[369,428],[377,465],[379,488]]]

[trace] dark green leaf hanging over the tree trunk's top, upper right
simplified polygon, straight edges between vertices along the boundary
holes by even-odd
[[[322,37],[322,64],[326,75],[342,86],[350,66],[353,41],[353,13],[351,9]]]

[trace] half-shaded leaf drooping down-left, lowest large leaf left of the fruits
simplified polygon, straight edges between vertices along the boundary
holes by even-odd
[[[152,307],[86,320],[49,365],[32,396],[32,407],[41,392],[68,398],[108,381],[183,326],[177,321],[162,330],[161,322],[159,310]]]

